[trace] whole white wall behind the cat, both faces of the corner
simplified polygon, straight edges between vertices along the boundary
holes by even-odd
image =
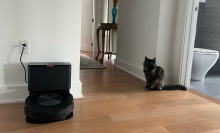
[[[157,58],[172,83],[177,0],[120,0],[116,66],[145,81],[144,56]]]

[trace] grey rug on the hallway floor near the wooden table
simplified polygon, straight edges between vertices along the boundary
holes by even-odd
[[[92,59],[91,57],[81,54],[80,55],[80,69],[106,69],[102,64]]]

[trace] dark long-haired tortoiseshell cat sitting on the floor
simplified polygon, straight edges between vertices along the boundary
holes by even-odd
[[[148,90],[187,90],[183,85],[164,86],[165,73],[162,67],[157,66],[156,58],[149,59],[145,56],[144,74]]]

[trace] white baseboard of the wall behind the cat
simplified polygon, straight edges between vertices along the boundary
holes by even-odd
[[[143,68],[138,68],[135,67],[129,63],[126,63],[124,61],[115,59],[115,66],[126,71],[127,73],[137,77],[138,79],[142,80],[142,81],[146,81],[144,73],[143,73]],[[165,73],[165,84],[171,84],[172,81],[172,74],[166,74]]]

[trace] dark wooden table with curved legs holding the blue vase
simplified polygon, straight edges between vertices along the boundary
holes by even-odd
[[[100,59],[100,62],[103,63],[103,59],[104,59],[104,55],[108,54],[108,59],[110,59],[112,57],[113,52],[109,52],[108,50],[110,50],[110,31],[112,29],[117,29],[117,24],[112,24],[112,23],[100,23],[99,27],[97,28],[97,44],[98,44],[98,54],[95,57],[96,60],[98,60],[99,54],[102,53],[102,58]],[[102,30],[102,51],[100,51],[99,48],[99,31]],[[104,51],[104,44],[105,44],[105,31],[107,31],[108,37],[109,37],[109,42],[108,42],[108,50],[107,50],[107,46],[106,46],[106,52]]]

